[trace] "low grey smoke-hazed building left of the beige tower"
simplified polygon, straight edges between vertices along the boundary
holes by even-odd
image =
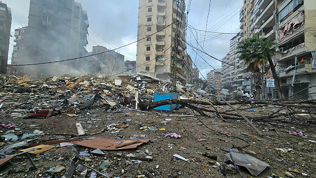
[[[91,54],[97,55],[89,56]],[[94,75],[111,76],[124,71],[124,56],[114,50],[106,48],[105,46],[93,46],[92,52],[88,52],[87,55],[87,73]]]

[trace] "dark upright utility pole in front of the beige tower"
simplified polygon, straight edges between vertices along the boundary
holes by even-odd
[[[180,54],[178,51],[178,47],[179,47],[179,35],[180,35],[180,30],[179,30],[179,21],[177,20],[175,22],[176,25],[176,32],[174,35],[174,45],[172,48],[172,57],[173,57],[173,61],[172,61],[172,87],[173,87],[173,92],[177,92],[177,63],[178,63],[178,55]]]

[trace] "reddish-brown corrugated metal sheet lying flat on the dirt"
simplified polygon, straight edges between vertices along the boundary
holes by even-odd
[[[126,139],[126,140],[128,140],[128,139]],[[90,140],[83,140],[83,141],[78,141],[78,142],[75,141],[72,143],[77,144],[77,145],[81,145],[81,146],[85,146],[85,147],[89,147],[89,148],[95,148],[95,149],[99,148],[100,150],[120,150],[120,149],[136,148],[137,146],[139,146],[143,143],[147,143],[150,139],[138,139],[138,140],[141,142],[130,144],[127,146],[123,146],[120,148],[116,148],[117,145],[125,140],[97,137],[97,138],[90,139]]]

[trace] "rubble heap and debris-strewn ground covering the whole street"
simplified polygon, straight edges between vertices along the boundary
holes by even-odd
[[[188,107],[135,110],[136,89],[149,103],[154,92],[170,87],[145,75],[40,80],[2,75],[1,83],[0,178],[238,178],[234,163],[224,162],[230,148],[237,165],[238,155],[251,156],[237,166],[243,177],[316,174],[315,123],[303,121],[311,121],[310,114],[253,121],[260,136],[245,120],[225,114],[232,119],[210,112],[203,117]],[[194,92],[195,99],[214,100],[214,95],[178,87],[183,98]],[[234,106],[249,118],[270,115],[276,108]],[[230,109],[215,107],[220,113]]]

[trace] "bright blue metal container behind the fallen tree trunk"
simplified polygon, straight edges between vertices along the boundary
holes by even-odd
[[[154,101],[160,101],[165,99],[178,99],[178,93],[169,93],[169,92],[155,92],[155,98]],[[179,109],[179,104],[169,104],[164,106],[159,106],[155,108],[157,110],[164,110],[164,111],[172,111],[174,109]]]

